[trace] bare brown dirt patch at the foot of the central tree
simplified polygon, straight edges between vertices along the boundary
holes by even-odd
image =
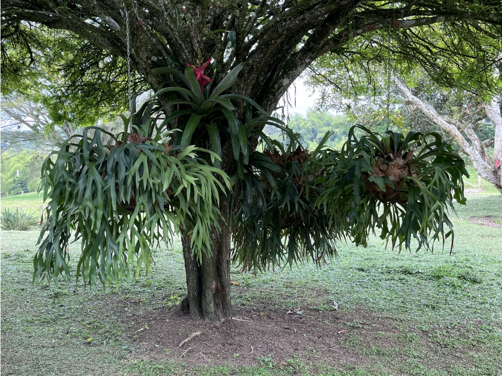
[[[293,313],[295,309],[245,307],[220,325],[176,312],[157,311],[150,316],[145,312],[130,330],[143,349],[143,359],[169,358],[190,365],[252,366],[273,361],[283,368],[290,366],[287,359],[297,357],[310,364],[339,366],[343,362],[364,367],[367,360],[350,346],[352,340],[373,342],[378,337],[383,351],[397,345],[395,321],[385,316],[300,310],[302,315]],[[199,334],[179,346],[192,333]]]

